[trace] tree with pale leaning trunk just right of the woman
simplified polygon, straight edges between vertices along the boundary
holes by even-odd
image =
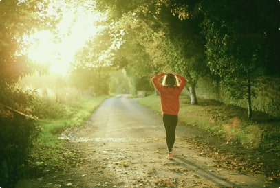
[[[200,35],[200,16],[195,15],[195,8],[188,4],[173,4],[173,16],[169,18],[169,37],[175,46],[173,54],[182,58],[173,58],[171,67],[186,76],[191,104],[198,104],[195,87],[200,77],[209,73],[206,66],[204,38]],[[181,59],[181,60],[180,60]]]

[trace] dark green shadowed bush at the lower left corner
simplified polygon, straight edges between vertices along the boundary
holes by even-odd
[[[21,167],[39,132],[33,119],[14,114],[0,117],[0,186],[13,187],[21,177]]]

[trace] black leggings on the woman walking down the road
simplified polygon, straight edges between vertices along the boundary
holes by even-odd
[[[171,152],[175,143],[175,130],[178,122],[178,116],[163,114],[162,121],[166,132],[167,148],[169,152]]]

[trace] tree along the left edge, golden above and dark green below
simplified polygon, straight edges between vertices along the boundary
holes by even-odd
[[[52,27],[46,1],[0,1],[0,184],[14,187],[20,167],[39,129],[31,116],[32,91],[21,91],[16,83],[35,70],[41,71],[27,56],[23,40],[35,28]],[[3,167],[2,167],[3,165]],[[3,175],[3,176],[2,176]]]

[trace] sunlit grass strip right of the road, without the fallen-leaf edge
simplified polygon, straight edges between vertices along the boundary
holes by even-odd
[[[279,121],[269,122],[264,113],[253,113],[248,121],[247,110],[208,99],[198,99],[199,105],[189,104],[188,96],[180,96],[179,121],[187,126],[197,126],[211,131],[225,141],[241,143],[244,148],[279,152]],[[139,100],[140,104],[160,112],[160,97],[149,95]]]

